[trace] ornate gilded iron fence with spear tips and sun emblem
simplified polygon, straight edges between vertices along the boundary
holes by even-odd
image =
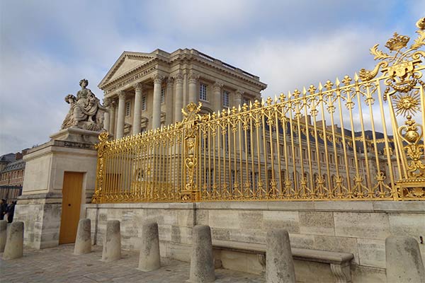
[[[108,141],[93,202],[425,200],[425,19],[353,78]],[[382,75],[378,76],[381,71]]]

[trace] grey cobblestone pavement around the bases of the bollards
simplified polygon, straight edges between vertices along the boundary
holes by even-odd
[[[115,262],[102,262],[102,250],[94,246],[86,255],[73,255],[74,245],[45,250],[24,249],[23,258],[0,260],[0,282],[147,282],[181,283],[189,278],[189,263],[162,258],[162,267],[151,272],[137,270],[138,253],[123,251]],[[1,255],[1,254],[0,254]],[[215,282],[265,282],[259,275],[215,270]]]

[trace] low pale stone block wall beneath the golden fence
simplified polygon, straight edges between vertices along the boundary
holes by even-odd
[[[287,229],[294,248],[353,253],[353,282],[385,282],[387,236],[412,236],[418,242],[419,236],[425,237],[425,202],[86,204],[85,212],[97,244],[106,221],[117,219],[123,248],[130,250],[140,247],[141,222],[157,221],[162,256],[185,261],[190,259],[191,229],[196,224],[209,225],[213,240],[248,243],[265,243],[267,229]],[[425,258],[425,245],[419,246]],[[239,259],[231,256],[234,262]],[[329,269],[298,261],[295,268],[297,275]]]

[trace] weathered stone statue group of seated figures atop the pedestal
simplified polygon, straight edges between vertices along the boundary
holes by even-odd
[[[69,103],[69,112],[62,122],[61,129],[77,127],[89,131],[99,132],[103,129],[103,119],[106,108],[87,86],[89,81],[82,79],[79,82],[81,90],[77,92],[77,97],[72,94],[65,96],[65,101]]]

